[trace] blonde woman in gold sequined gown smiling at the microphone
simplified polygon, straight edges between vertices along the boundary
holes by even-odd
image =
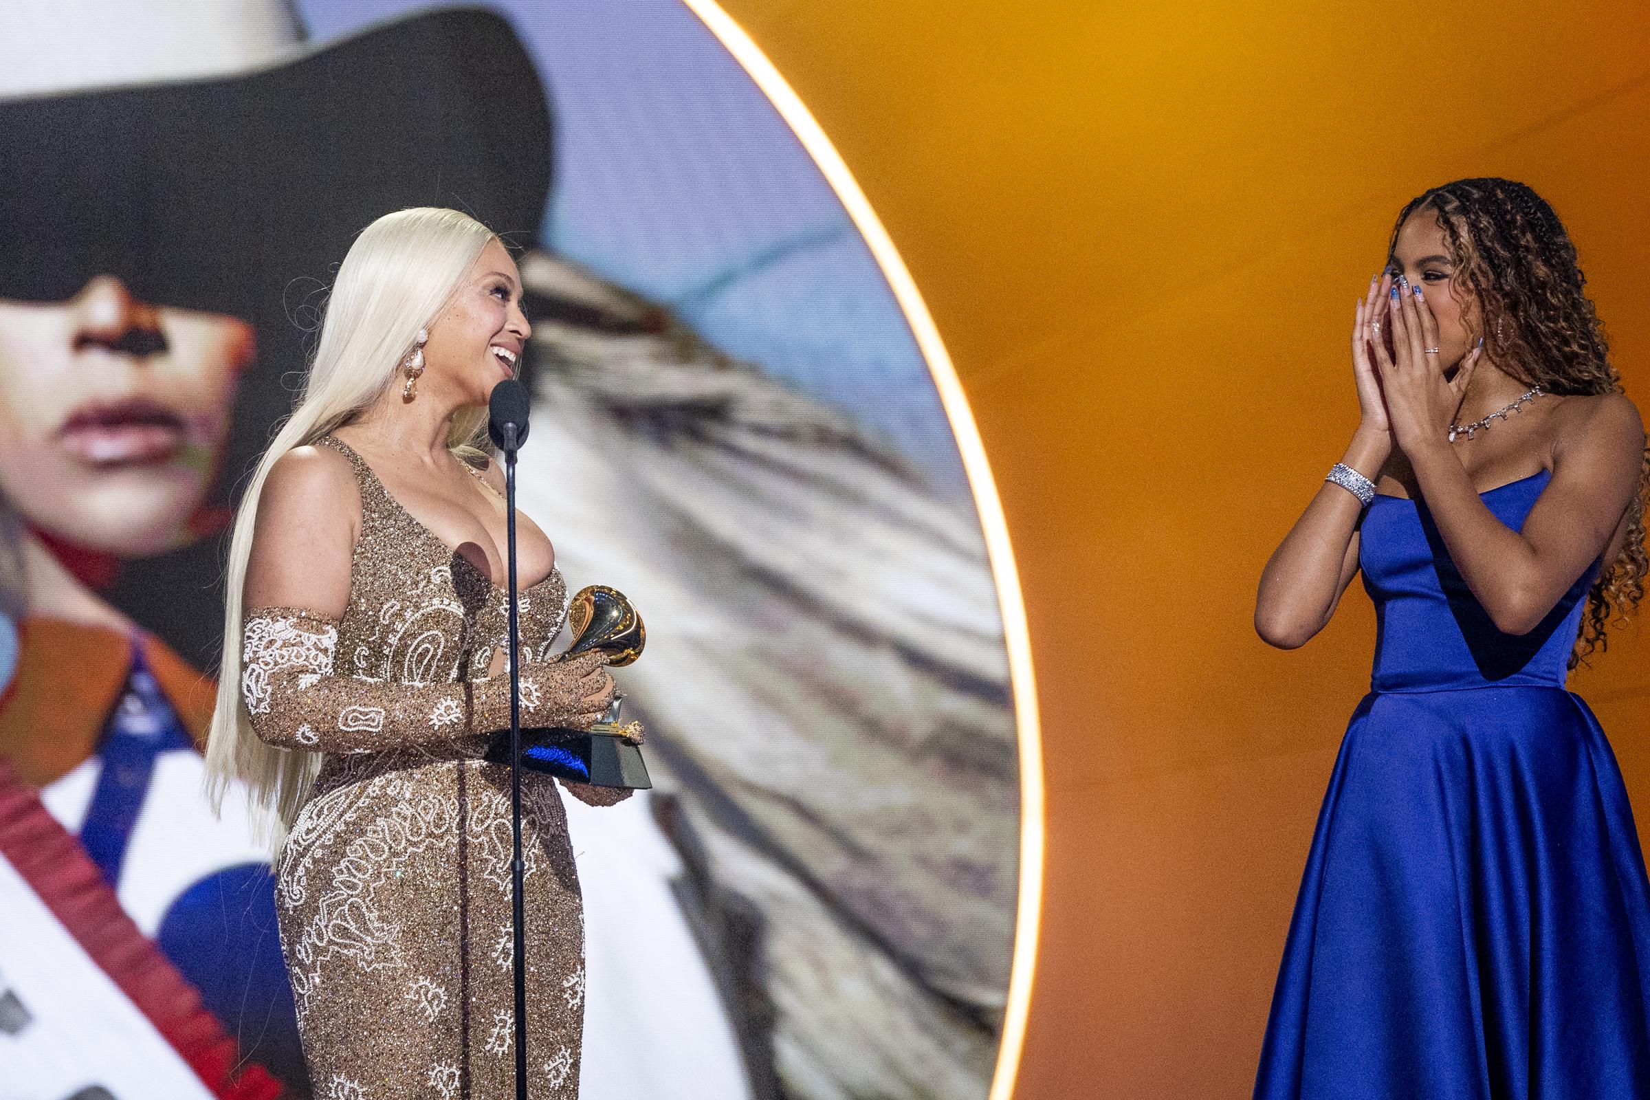
[[[510,721],[502,473],[474,447],[530,327],[465,214],[378,219],[338,269],[304,397],[236,521],[208,765],[276,844],[280,943],[317,1097],[510,1097]],[[604,658],[553,663],[554,551],[518,518],[521,724],[587,727]],[[528,582],[530,581],[530,582]],[[627,792],[568,783],[584,801]],[[523,773],[528,1074],[576,1097],[579,884],[553,782]]]

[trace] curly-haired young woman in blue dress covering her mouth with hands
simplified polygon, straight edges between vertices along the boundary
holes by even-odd
[[[1361,424],[1256,599],[1280,648],[1360,571],[1378,612],[1256,1097],[1650,1097],[1650,884],[1566,689],[1643,592],[1645,432],[1553,208],[1411,201],[1351,360]]]

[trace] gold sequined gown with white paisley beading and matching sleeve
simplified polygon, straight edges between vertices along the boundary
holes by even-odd
[[[276,871],[304,1054],[320,1100],[505,1100],[515,1095],[510,769],[478,757],[510,722],[508,676],[485,675],[507,645],[508,599],[348,445],[322,444],[350,458],[361,495],[348,609],[342,620],[252,609],[243,637],[252,729],[325,754]],[[573,693],[558,703],[553,681],[528,676],[564,615],[556,571],[520,597],[523,724],[571,717]],[[521,801],[528,1088],[571,1100],[584,1009],[579,879],[553,780],[523,772]]]

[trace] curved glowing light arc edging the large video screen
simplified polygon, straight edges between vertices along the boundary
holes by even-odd
[[[934,388],[939,391],[952,435],[962,452],[962,467],[974,490],[974,501],[985,533],[985,549],[997,581],[997,602],[1003,617],[1003,642],[1008,648],[1008,676],[1015,694],[1015,726],[1020,740],[1020,902],[1015,915],[1015,953],[1008,976],[1008,1003],[1003,1011],[1003,1037],[997,1054],[997,1072],[987,1100],[1010,1100],[1020,1072],[1020,1055],[1025,1049],[1026,1018],[1031,1009],[1031,978],[1036,965],[1038,922],[1043,910],[1043,854],[1046,844],[1044,793],[1043,793],[1043,734],[1036,706],[1036,679],[1031,670],[1031,632],[1026,625],[1025,597],[1020,592],[1020,572],[1015,567],[1013,546],[1008,539],[1008,521],[1003,516],[1002,498],[992,480],[980,430],[969,409],[957,369],[939,336],[939,328],[917,292],[916,280],[906,270],[881,219],[871,209],[853,173],[825,130],[779,74],[767,54],[751,40],[733,16],[721,10],[716,0],[683,0],[683,3],[721,41],[744,68],[756,86],[767,96],[779,115],[802,142],[802,147],[818,165],[837,198],[853,218],[871,256],[883,269],[894,300],[906,315],[917,348],[927,361]]]

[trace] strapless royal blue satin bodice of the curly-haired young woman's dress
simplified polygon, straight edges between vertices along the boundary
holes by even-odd
[[[1480,496],[1515,531],[1551,472],[1498,485]],[[1376,610],[1374,691],[1563,688],[1597,564],[1576,579],[1526,635],[1497,630],[1457,572],[1426,503],[1378,495],[1363,519],[1358,552]]]

